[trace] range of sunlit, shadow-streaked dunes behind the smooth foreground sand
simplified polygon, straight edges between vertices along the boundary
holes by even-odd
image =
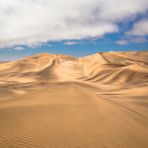
[[[128,81],[138,84],[145,82],[148,76],[146,55],[147,52],[110,52],[74,58],[68,55],[38,54],[0,64],[0,82],[78,79],[117,84]]]

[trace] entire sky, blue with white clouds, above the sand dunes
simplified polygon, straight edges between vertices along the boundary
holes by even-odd
[[[2,0],[0,61],[148,50],[147,12],[147,0]]]

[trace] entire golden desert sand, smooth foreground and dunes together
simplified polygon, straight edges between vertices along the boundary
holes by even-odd
[[[148,52],[0,63],[0,148],[148,148]]]

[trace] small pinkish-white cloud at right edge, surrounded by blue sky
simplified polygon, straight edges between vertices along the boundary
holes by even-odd
[[[138,36],[144,36],[148,35],[148,20],[144,19],[139,22],[137,22],[133,29],[126,34],[128,35],[138,35]]]

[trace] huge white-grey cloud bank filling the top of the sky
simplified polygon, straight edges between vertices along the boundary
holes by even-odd
[[[147,9],[147,0],[0,0],[0,48],[100,37]]]

